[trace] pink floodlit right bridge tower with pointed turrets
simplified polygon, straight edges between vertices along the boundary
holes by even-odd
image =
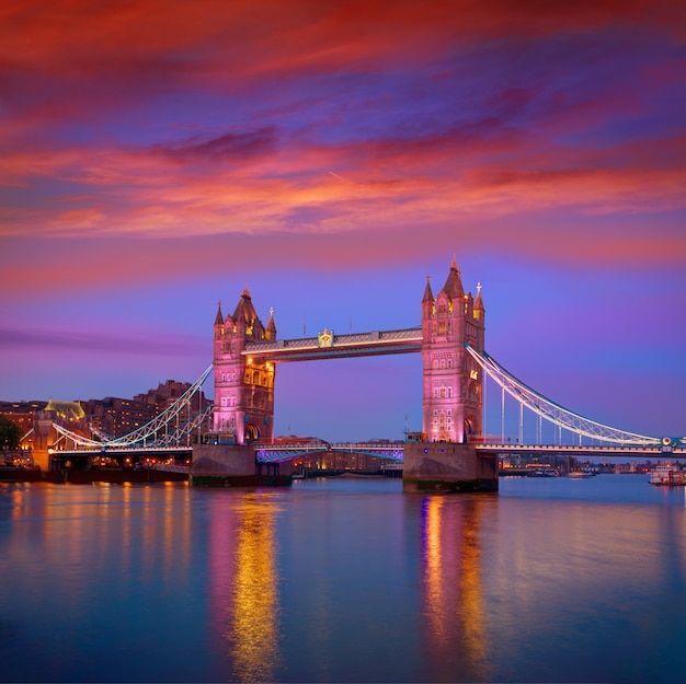
[[[455,259],[434,299],[426,277],[422,299],[424,366],[423,431],[432,442],[467,442],[482,437],[482,372],[465,349],[483,351],[485,310],[481,285],[477,299],[465,294]]]

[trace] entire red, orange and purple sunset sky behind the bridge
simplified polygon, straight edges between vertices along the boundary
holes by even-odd
[[[683,0],[0,7],[0,399],[194,381],[245,285],[279,337],[418,326],[454,256],[511,372],[686,434]],[[399,439],[421,392],[283,364],[275,430]]]

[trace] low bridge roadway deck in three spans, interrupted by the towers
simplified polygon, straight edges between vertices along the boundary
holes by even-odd
[[[569,455],[569,456],[627,456],[627,457],[659,457],[659,459],[686,459],[686,445],[663,448],[661,444],[647,445],[556,445],[556,444],[518,444],[518,443],[488,443],[476,444],[477,453],[501,455]],[[290,461],[310,453],[322,452],[356,453],[389,461],[402,462],[404,443],[379,443],[379,442],[345,442],[345,443],[302,443],[302,444],[255,444],[255,460],[259,463],[275,463]],[[191,457],[192,447],[118,447],[106,449],[70,449],[60,450],[53,454],[54,457],[75,456],[157,456],[169,457],[172,455]]]

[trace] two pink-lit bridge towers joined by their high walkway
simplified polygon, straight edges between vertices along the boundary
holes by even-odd
[[[231,315],[221,303],[214,325],[213,431],[238,444],[274,438],[274,380],[279,362],[420,352],[423,363],[423,430],[430,441],[466,442],[481,434],[482,369],[467,346],[483,352],[485,308],[465,292],[455,259],[434,297],[426,279],[421,327],[278,339],[274,311],[266,326],[248,288]],[[467,345],[467,346],[466,346]]]

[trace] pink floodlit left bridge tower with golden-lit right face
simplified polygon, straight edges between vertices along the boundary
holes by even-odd
[[[215,318],[215,416],[214,431],[245,444],[274,438],[274,363],[241,353],[247,341],[276,339],[274,312],[262,325],[248,287],[232,316]]]

